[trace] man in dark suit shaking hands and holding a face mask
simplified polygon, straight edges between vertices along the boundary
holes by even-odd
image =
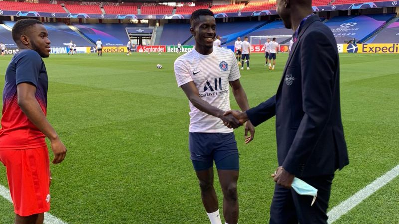
[[[240,123],[257,126],[276,116],[278,164],[270,209],[272,224],[327,223],[334,172],[349,163],[341,121],[339,57],[331,30],[313,14],[311,0],[277,0],[294,44],[277,94],[245,112],[229,111]],[[291,184],[298,177],[318,189],[298,195]]]

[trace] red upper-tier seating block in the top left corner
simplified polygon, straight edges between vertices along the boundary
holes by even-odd
[[[59,4],[25,3],[14,1],[0,1],[1,10],[9,11],[37,11],[37,12],[56,12],[65,13]]]

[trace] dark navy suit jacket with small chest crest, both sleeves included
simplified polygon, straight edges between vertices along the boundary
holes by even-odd
[[[303,24],[277,94],[246,111],[253,125],[276,116],[278,164],[296,176],[333,174],[349,163],[341,121],[339,57],[317,15]]]

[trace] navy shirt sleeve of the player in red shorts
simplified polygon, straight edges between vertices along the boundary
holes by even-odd
[[[35,51],[21,53],[21,57],[16,61],[16,85],[20,83],[31,83],[37,87],[40,71],[43,66],[40,55]]]

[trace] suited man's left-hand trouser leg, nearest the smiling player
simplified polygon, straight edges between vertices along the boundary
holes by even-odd
[[[277,184],[270,206],[270,224],[298,224],[291,190]]]

